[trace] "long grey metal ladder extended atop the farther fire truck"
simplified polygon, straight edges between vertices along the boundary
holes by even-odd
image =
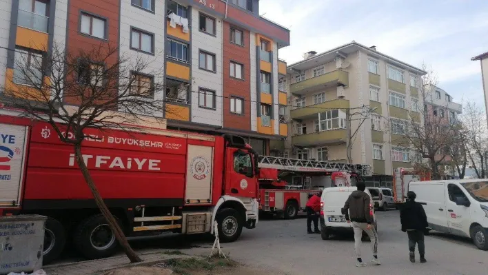
[[[259,156],[258,167],[274,168],[296,172],[354,172],[361,176],[371,176],[372,167],[367,164],[349,164],[335,161],[308,161],[303,159],[288,159],[278,156]]]

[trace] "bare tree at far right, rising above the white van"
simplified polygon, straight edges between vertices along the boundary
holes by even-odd
[[[478,179],[487,176],[488,129],[486,116],[482,108],[475,102],[467,102],[462,115],[462,125],[465,128],[465,141],[470,166],[476,172]]]

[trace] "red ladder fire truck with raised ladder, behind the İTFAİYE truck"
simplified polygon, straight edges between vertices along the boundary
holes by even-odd
[[[351,186],[370,176],[372,167],[364,164],[349,164],[336,161],[312,161],[289,159],[276,156],[259,156],[259,210],[262,214],[283,214],[285,218],[296,218],[305,210],[309,195],[325,187]],[[297,174],[309,179],[321,179],[314,187],[304,186],[301,190],[287,189],[283,174]],[[305,187],[305,188],[303,188]]]

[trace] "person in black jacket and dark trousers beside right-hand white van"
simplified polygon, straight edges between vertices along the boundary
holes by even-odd
[[[427,216],[425,215],[424,207],[420,203],[416,203],[417,195],[413,191],[407,192],[409,201],[402,206],[400,210],[400,222],[402,223],[402,231],[408,234],[408,247],[410,250],[410,261],[415,263],[415,245],[418,244],[418,254],[420,254],[420,263],[426,263],[425,260],[425,243],[424,232],[427,223]]]

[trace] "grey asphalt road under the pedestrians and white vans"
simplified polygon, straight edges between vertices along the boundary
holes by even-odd
[[[323,241],[319,234],[307,234],[305,218],[259,221],[256,229],[243,230],[234,243],[222,244],[223,252],[241,263],[281,274],[488,274],[488,252],[477,249],[469,239],[432,233],[425,237],[427,263],[410,263],[407,234],[400,231],[398,211],[377,212],[378,258],[380,266],[356,267],[354,238]],[[179,249],[187,254],[210,254],[213,240],[201,236],[137,238],[138,252]],[[372,258],[369,243],[363,242],[363,260]],[[417,256],[418,257],[418,256]],[[64,261],[74,261],[69,257]]]

